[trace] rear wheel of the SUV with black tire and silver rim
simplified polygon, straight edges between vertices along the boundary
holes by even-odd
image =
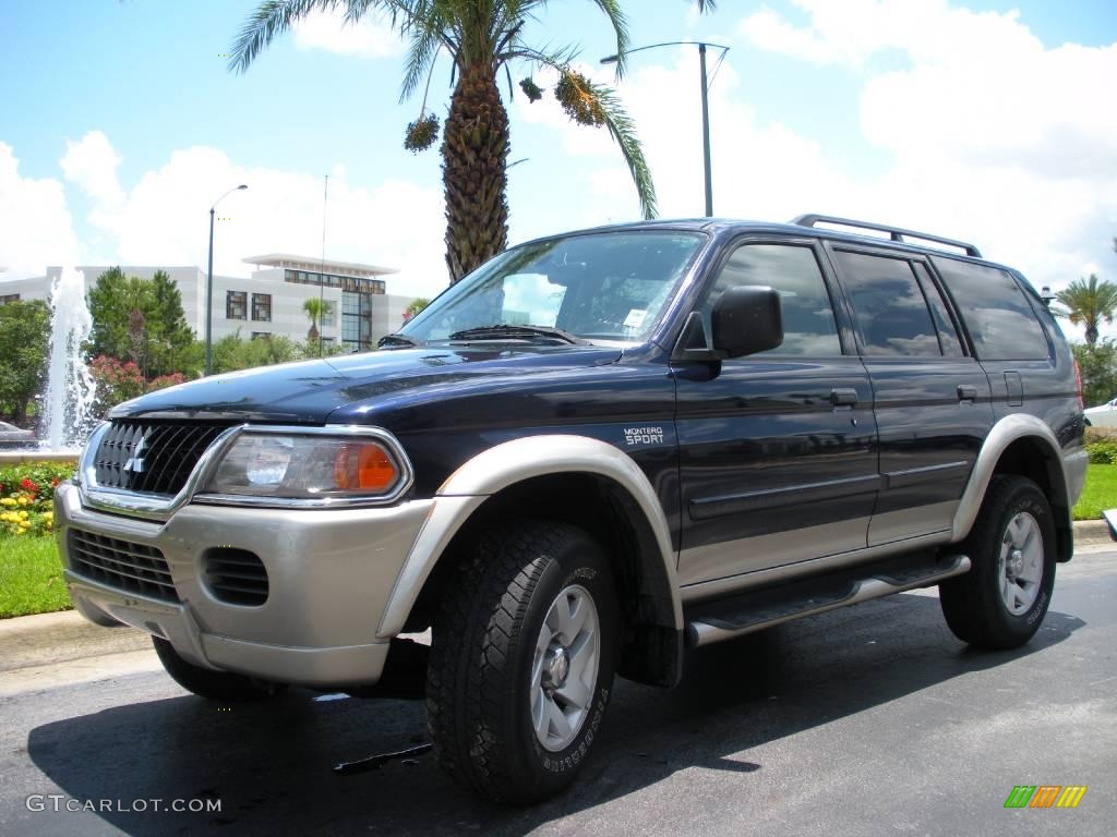
[[[984,648],[1015,648],[1039,631],[1054,587],[1054,522],[1039,485],[994,477],[962,545],[973,569],[938,586],[946,624]]]

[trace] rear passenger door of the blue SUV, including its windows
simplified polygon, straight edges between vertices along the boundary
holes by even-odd
[[[872,382],[876,546],[948,530],[992,426],[990,385],[920,257],[828,244]]]

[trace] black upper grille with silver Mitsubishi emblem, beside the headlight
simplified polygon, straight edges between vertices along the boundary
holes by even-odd
[[[94,456],[99,488],[173,497],[226,425],[114,421]]]

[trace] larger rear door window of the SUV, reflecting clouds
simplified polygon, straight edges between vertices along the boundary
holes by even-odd
[[[834,252],[866,355],[938,357],[938,334],[911,264],[903,259]]]

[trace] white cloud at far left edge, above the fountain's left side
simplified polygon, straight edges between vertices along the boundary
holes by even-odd
[[[0,142],[0,267],[8,268],[0,279],[41,276],[77,252],[61,182],[20,176],[12,147]]]

